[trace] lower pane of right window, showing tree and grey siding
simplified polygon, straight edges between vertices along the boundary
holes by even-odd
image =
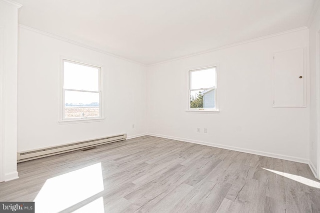
[[[215,89],[190,91],[191,109],[214,109]]]

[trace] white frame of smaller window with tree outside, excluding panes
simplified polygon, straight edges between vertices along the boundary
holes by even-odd
[[[191,89],[191,72],[195,71],[200,71],[200,70],[205,70],[209,68],[215,68],[215,86],[210,87],[210,88],[196,88],[196,89]],[[217,64],[212,64],[212,65],[206,65],[206,66],[200,66],[196,68],[191,68],[187,70],[187,107],[185,112],[191,112],[191,113],[218,113],[219,112],[219,105],[218,105],[218,65]],[[202,108],[202,109],[195,109],[195,108],[190,108],[190,91],[194,90],[207,90],[207,89],[214,89],[215,91],[215,108]]]

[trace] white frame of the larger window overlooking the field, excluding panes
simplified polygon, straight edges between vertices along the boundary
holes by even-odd
[[[94,121],[101,121],[104,119],[103,117],[103,110],[102,110],[102,66],[92,65],[91,63],[86,62],[79,62],[78,60],[68,59],[65,57],[60,58],[61,61],[61,71],[60,71],[60,89],[59,89],[59,120],[58,122],[63,123],[82,123],[82,122],[94,122]],[[79,64],[83,66],[93,67],[98,69],[98,91],[89,91],[89,90],[81,90],[81,89],[66,89],[64,88],[64,61],[74,64]],[[76,91],[76,92],[91,92],[91,93],[98,93],[99,94],[99,116],[92,116],[92,117],[77,117],[77,118],[65,118],[64,117],[64,93],[65,91]]]

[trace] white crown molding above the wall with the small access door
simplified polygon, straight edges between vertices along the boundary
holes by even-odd
[[[202,51],[202,52],[192,53],[192,54],[189,54],[189,55],[185,55],[185,56],[182,56],[182,57],[177,57],[177,58],[161,61],[161,62],[154,63],[154,64],[148,64],[147,66],[155,66],[155,65],[159,65],[159,64],[163,64],[163,63],[167,63],[167,62],[171,62],[171,61],[176,61],[176,60],[180,60],[180,59],[184,59],[184,58],[189,58],[189,57],[193,57],[193,56],[196,56],[196,55],[201,55],[201,54],[205,54],[205,53],[209,53],[209,52],[214,52],[214,51],[217,51],[217,50],[226,49],[226,48],[238,46],[238,45],[241,45],[241,44],[246,44],[246,43],[250,43],[250,42],[254,42],[254,41],[259,41],[259,40],[263,40],[263,39],[266,39],[266,38],[271,38],[271,37],[275,37],[275,36],[279,36],[279,35],[284,35],[284,34],[287,34],[287,33],[296,32],[296,31],[300,31],[300,30],[304,30],[304,29],[307,29],[307,27],[306,26],[302,26],[302,27],[286,30],[286,31],[283,31],[283,32],[277,32],[277,33],[270,34],[270,35],[265,35],[265,36],[261,36],[261,37],[257,37],[257,38],[253,38],[253,39],[249,39],[249,40],[245,40],[245,41],[240,41],[240,42],[236,42],[236,43],[233,43],[233,44],[229,44],[229,45],[224,45],[224,46],[208,49],[208,50],[205,50],[205,51]]]

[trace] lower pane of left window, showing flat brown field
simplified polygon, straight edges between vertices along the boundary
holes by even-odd
[[[64,118],[99,116],[99,93],[64,91]]]

